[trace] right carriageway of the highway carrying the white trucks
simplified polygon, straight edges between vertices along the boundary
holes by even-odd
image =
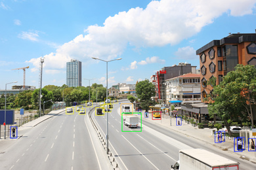
[[[240,169],[255,169],[253,163],[239,159],[234,154],[148,121],[142,122],[141,132],[126,126],[122,131],[119,103],[114,104],[114,109],[108,113],[108,125],[110,149],[121,169],[170,169],[171,165],[179,160],[179,150],[186,148],[203,148],[240,162]],[[101,133],[106,136],[106,114],[104,116],[94,114],[93,117]]]

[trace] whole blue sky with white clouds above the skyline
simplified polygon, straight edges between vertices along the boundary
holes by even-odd
[[[228,33],[255,33],[256,0],[0,0],[0,89],[8,82],[66,84],[66,62],[82,61],[82,77],[106,86],[150,79],[162,67],[187,62]],[[9,84],[11,89],[14,84]],[[83,86],[89,86],[87,80]]]

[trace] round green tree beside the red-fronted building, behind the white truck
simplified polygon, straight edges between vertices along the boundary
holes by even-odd
[[[148,112],[150,105],[154,104],[151,97],[156,95],[156,90],[154,84],[152,84],[148,79],[140,81],[136,84],[136,93],[141,102],[141,107]]]

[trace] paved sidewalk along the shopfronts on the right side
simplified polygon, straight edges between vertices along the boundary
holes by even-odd
[[[199,129],[198,126],[193,127],[191,124],[187,124],[185,121],[182,120],[181,126],[176,126],[176,118],[170,118],[168,115],[163,114],[161,120],[160,118],[154,118],[155,120],[152,120],[152,114],[148,114],[148,118],[144,118],[144,110],[142,110],[142,120],[151,122],[153,124],[158,124],[160,126],[167,127],[169,129],[172,129],[174,131],[177,131],[179,133],[182,133],[184,135],[188,135],[189,137],[194,137],[195,139],[198,139],[200,141],[203,141],[208,144],[212,144],[213,146],[219,147],[221,150],[228,150],[229,152],[238,154],[242,159],[249,160],[253,163],[256,163],[256,157],[255,152],[248,152],[248,148],[243,150],[243,152],[234,152],[234,139],[227,139],[225,138],[225,142],[223,143],[215,143],[215,137],[214,135],[211,136],[211,131],[213,129],[210,128],[204,128]],[[159,120],[158,120],[159,119]],[[171,122],[170,122],[171,119]],[[170,126],[171,123],[171,126]]]

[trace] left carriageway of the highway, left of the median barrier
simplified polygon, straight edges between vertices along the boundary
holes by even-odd
[[[0,154],[0,169],[107,169],[89,124],[87,114],[78,112],[45,120]]]

